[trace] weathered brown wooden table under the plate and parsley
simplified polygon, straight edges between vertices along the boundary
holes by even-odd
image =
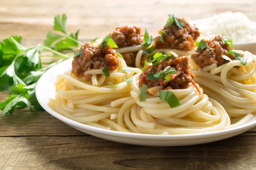
[[[68,17],[79,40],[105,37],[116,26],[136,24],[151,35],[168,13],[192,21],[240,11],[256,21],[255,0],[0,0],[0,40],[21,35],[23,45],[43,43],[57,14]],[[6,91],[0,101],[7,99]],[[256,169],[256,128],[209,144],[151,147],[121,144],[87,135],[28,108],[0,115],[1,170],[252,170]]]

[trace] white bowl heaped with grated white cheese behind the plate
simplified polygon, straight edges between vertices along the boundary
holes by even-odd
[[[213,39],[220,35],[232,40],[234,49],[256,53],[256,22],[241,12],[227,11],[192,23],[201,32],[200,39]]]

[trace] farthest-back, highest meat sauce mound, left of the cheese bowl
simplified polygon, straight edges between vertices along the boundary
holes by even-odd
[[[159,35],[154,38],[155,49],[177,49],[182,51],[191,51],[195,48],[195,41],[200,36],[200,32],[196,26],[189,24],[184,18],[177,18],[184,23],[184,27],[180,28],[176,25],[175,21],[166,29],[162,29],[166,35],[162,35],[164,42],[160,41],[161,30]]]

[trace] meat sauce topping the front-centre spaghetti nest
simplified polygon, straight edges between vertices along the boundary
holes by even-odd
[[[147,75],[148,73],[156,73],[157,71],[163,71],[167,66],[173,67],[177,71],[177,77],[167,82],[164,79],[153,79],[150,80]],[[153,86],[163,86],[164,89],[184,89],[189,86],[189,83],[193,81],[195,75],[189,71],[189,58],[187,56],[182,57],[167,57],[165,60],[158,61],[157,64],[150,66],[147,65],[144,71],[139,76],[139,87],[142,84],[148,86],[148,88]]]

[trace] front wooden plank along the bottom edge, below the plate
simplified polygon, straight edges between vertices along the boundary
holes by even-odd
[[[254,169],[256,136],[239,135],[195,146],[149,147],[92,136],[0,137],[6,169],[180,170]]]

